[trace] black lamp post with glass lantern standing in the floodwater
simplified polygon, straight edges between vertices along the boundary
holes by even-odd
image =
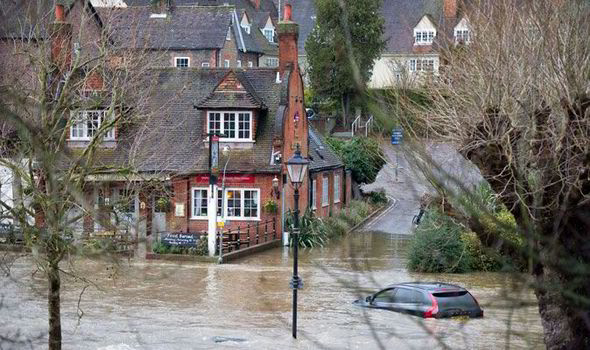
[[[299,145],[293,157],[287,161],[287,171],[289,172],[289,178],[295,189],[295,211],[293,215],[293,278],[291,279],[290,286],[293,289],[293,338],[297,338],[297,289],[303,287],[303,280],[297,275],[297,255],[299,253],[299,187],[303,184],[305,174],[307,173],[307,165],[309,161],[301,156]]]

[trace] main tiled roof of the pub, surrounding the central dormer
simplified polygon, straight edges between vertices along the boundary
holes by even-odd
[[[140,172],[172,174],[208,171],[208,148],[203,112],[195,108],[227,76],[227,68],[159,68],[149,78],[155,88],[147,98],[145,120],[130,128],[113,150],[101,150],[99,164],[107,167],[130,164]],[[276,70],[250,68],[233,70],[240,81],[248,82],[268,107],[258,115],[256,139],[250,148],[234,147],[228,172],[280,172],[271,165],[274,115],[279,104]],[[231,145],[231,144],[230,144]],[[232,146],[233,147],[233,146]],[[220,163],[225,164],[222,156]]]

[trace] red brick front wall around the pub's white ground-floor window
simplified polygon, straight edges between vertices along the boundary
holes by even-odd
[[[281,234],[281,220],[280,220],[280,206],[281,199],[277,199],[272,196],[272,180],[275,177],[274,174],[255,174],[254,183],[251,184],[239,184],[226,182],[226,188],[251,188],[260,190],[260,221],[258,220],[231,220],[227,224],[224,230],[236,230],[238,226],[243,229],[248,224],[251,226],[255,225],[256,222],[263,223],[267,220],[276,218],[276,230],[277,238],[280,238]],[[280,175],[276,175],[280,181]],[[193,219],[192,216],[192,188],[209,188],[208,183],[197,182],[197,176],[191,176],[189,178],[175,179],[173,182],[174,187],[174,198],[172,199],[172,215],[169,217],[168,228],[173,231],[207,231],[208,220],[207,218]],[[221,183],[218,184],[221,186]],[[267,213],[264,210],[264,204],[268,200],[273,200],[277,203],[278,211],[276,214]],[[177,217],[174,213],[175,203],[185,205],[184,216]],[[272,226],[267,227],[268,231],[272,230]],[[264,233],[264,227],[260,226],[260,234]]]

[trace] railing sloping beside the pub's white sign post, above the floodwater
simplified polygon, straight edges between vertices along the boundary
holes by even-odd
[[[238,226],[235,229],[229,229],[217,234],[216,250],[219,253],[219,238],[223,240],[221,246],[224,253],[228,253],[240,248],[252,247],[258,244],[270,242],[277,238],[277,221],[272,218],[266,221],[257,221],[248,223],[245,226]]]

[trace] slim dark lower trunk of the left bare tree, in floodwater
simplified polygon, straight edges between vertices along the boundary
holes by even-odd
[[[47,274],[49,291],[47,295],[49,310],[49,350],[61,350],[61,280],[57,262],[51,262]]]

